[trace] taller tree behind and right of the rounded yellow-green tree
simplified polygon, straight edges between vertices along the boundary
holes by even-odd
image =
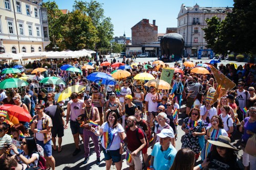
[[[75,1],[73,10],[79,10],[83,14],[91,17],[93,25],[97,29],[97,36],[99,41],[96,43],[95,48],[110,47],[110,40],[114,35],[114,26],[111,23],[111,18],[104,16],[102,4],[96,1],[83,2]]]

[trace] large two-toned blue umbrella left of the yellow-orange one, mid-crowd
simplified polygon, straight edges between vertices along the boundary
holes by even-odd
[[[95,83],[102,80],[101,84],[105,84],[105,85],[116,84],[116,80],[112,76],[105,74],[104,72],[93,72],[92,74],[87,76],[87,79]]]

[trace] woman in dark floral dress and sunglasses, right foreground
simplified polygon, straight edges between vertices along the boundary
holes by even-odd
[[[184,140],[181,148],[190,148],[195,153],[197,160],[200,155],[199,137],[205,135],[204,122],[200,118],[200,110],[197,108],[191,109],[189,117],[183,121],[181,129],[185,132]]]

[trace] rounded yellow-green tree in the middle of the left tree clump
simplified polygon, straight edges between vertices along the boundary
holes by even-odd
[[[69,14],[66,28],[63,31],[65,32],[64,41],[70,50],[94,49],[95,44],[99,41],[91,17],[79,10]]]

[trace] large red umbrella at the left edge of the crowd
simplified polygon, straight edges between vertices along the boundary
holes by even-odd
[[[27,110],[17,105],[2,105],[0,106],[0,109],[8,111],[9,115],[17,117],[17,119],[22,122],[30,122],[32,119],[30,113]]]

